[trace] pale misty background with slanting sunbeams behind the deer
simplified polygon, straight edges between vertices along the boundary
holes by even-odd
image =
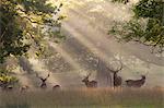
[[[50,72],[51,75],[48,79],[50,86],[54,84],[74,86],[75,83],[77,86],[82,86],[81,79],[89,73],[93,73],[91,80],[96,80],[97,60],[101,59],[106,68],[114,70],[118,68],[118,64],[113,64],[113,61],[121,60],[124,69],[118,74],[124,80],[140,79],[141,74],[148,73],[145,86],[163,85],[164,74],[161,72],[164,70],[164,58],[162,56],[155,57],[150,52],[150,47],[141,44],[118,43],[114,36],[107,34],[115,22],[122,23],[131,19],[133,15],[131,5],[137,1],[130,0],[127,4],[122,4],[113,3],[110,0],[50,0],[52,5],[63,4],[57,11],[67,17],[62,21],[61,28],[54,27],[54,31],[61,29],[66,40],[55,44],[52,37],[45,37],[45,43],[50,47],[51,52],[49,53],[52,55],[52,58],[46,58],[45,61],[42,58],[33,58],[35,48],[32,48],[28,51],[28,56],[32,57],[28,59],[30,65],[22,62],[22,69],[15,70],[21,84],[36,87],[39,80],[35,76],[35,72],[43,77]],[[52,16],[57,19],[56,14]],[[58,57],[59,59],[54,59]],[[28,68],[24,70],[23,67]],[[31,74],[33,72],[34,74]]]

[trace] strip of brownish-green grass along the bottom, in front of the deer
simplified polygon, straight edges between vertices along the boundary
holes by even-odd
[[[164,108],[164,91],[74,89],[0,94],[0,108]]]

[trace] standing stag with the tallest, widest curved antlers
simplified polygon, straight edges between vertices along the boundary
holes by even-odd
[[[118,75],[118,72],[122,70],[122,63],[120,62],[120,68],[117,69],[117,70],[112,70],[109,68],[108,68],[108,70],[114,73],[114,77],[113,77],[113,80],[114,80],[114,88],[120,86],[122,80],[121,80],[121,76]]]

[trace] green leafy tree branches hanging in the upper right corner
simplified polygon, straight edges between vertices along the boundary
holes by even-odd
[[[133,8],[134,16],[129,22],[116,24],[109,31],[122,41],[138,41],[164,51],[164,2],[141,0]]]

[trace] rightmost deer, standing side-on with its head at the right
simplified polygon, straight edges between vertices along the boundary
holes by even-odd
[[[145,75],[141,75],[141,80],[127,80],[128,87],[141,87],[145,83]]]

